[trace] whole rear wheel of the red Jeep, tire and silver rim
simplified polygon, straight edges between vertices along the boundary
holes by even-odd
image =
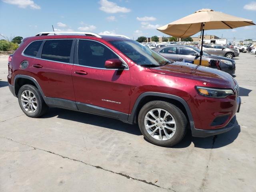
[[[38,88],[33,85],[23,85],[18,92],[20,108],[26,116],[37,118],[47,112],[48,106],[45,104]]]

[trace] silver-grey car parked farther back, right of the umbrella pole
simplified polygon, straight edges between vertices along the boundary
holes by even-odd
[[[239,56],[239,52],[237,50],[227,48],[219,44],[204,44],[203,51],[208,54],[225,56],[230,59]]]

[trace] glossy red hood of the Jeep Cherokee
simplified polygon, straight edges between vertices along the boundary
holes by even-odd
[[[174,62],[172,64],[150,68],[150,70],[160,74],[196,80],[199,81],[197,85],[200,86],[216,88],[234,88],[235,86],[235,82],[230,74],[221,70],[190,63]]]

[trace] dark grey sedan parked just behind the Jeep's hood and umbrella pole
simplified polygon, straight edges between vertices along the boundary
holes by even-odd
[[[165,58],[174,61],[182,61],[192,63],[195,59],[200,59],[200,50],[194,46],[189,45],[172,45],[161,48],[156,48],[154,51],[158,52]],[[233,59],[209,55],[206,52],[203,52],[203,60],[219,60],[220,61],[220,70],[227,72],[229,74],[235,74],[236,62]]]

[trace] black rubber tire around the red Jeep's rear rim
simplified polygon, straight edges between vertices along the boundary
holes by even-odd
[[[22,95],[22,92],[24,92],[25,90],[31,91],[32,94],[34,94],[34,96],[36,97],[37,108],[36,108],[35,112],[30,113],[30,112],[26,111],[24,109],[24,107],[22,106],[21,95]],[[20,90],[18,92],[18,101],[19,101],[21,110],[26,114],[26,116],[29,116],[32,118],[40,117],[40,116],[44,115],[48,110],[48,106],[44,102],[44,99],[42,98],[42,95],[40,94],[40,91],[38,90],[38,88],[36,88],[35,86],[30,85],[30,84],[23,85],[20,88]]]

